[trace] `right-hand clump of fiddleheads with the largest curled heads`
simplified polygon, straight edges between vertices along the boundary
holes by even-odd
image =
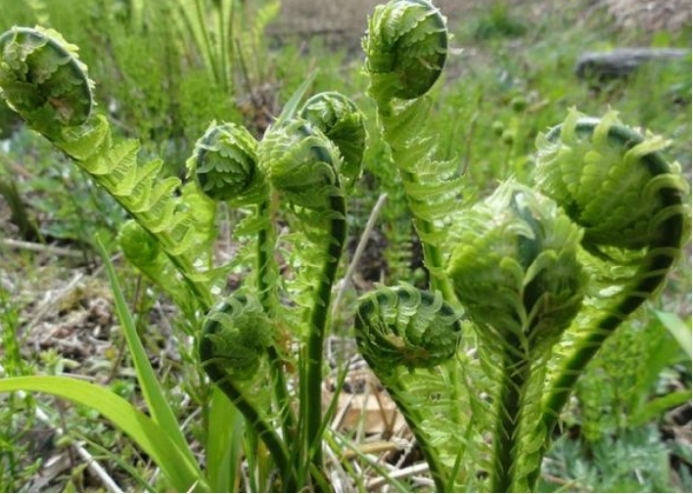
[[[678,166],[662,156],[661,138],[643,137],[613,112],[596,119],[572,110],[537,139],[533,187],[510,180],[460,210],[460,179],[449,163],[435,160],[435,139],[424,123],[425,93],[445,61],[441,19],[424,0],[376,8],[365,67],[425,247],[431,288],[468,318],[462,346],[438,358],[428,349],[449,343],[431,332],[437,341],[427,341],[426,351],[409,348],[406,335],[418,327],[412,321],[427,309],[408,313],[393,294],[430,297],[412,295],[411,287],[365,295],[357,341],[426,450],[439,490],[528,491],[585,366],[659,289],[678,257],[687,224],[685,185]],[[433,40],[439,51],[431,49]],[[399,90],[407,77],[417,80],[411,93]],[[426,357],[428,369],[414,369]],[[421,396],[441,390],[442,398],[417,401],[411,390]],[[434,422],[430,413],[439,403],[447,418],[436,416],[433,431],[425,424]]]

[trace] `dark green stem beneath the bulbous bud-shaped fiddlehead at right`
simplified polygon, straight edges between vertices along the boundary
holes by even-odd
[[[519,341],[517,343],[519,345]],[[515,465],[520,453],[518,440],[522,409],[532,363],[520,355],[516,348],[518,347],[507,345],[503,357],[503,378],[496,412],[491,492],[512,492]]]

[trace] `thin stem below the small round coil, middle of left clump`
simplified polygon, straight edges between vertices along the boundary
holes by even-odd
[[[257,214],[259,216],[270,214],[269,201],[258,205]],[[274,226],[270,223],[267,228],[261,229],[257,234],[257,293],[262,308],[272,321],[275,320],[277,304],[277,284],[273,276],[277,271],[277,264],[272,254],[274,244]],[[267,354],[271,369],[270,379],[274,386],[274,396],[281,415],[282,432],[284,437],[289,439],[294,428],[294,416],[291,412],[288,387],[284,377],[283,360],[274,345],[267,348]]]

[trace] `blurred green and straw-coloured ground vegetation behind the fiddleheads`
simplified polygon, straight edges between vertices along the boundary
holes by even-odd
[[[213,119],[242,123],[261,135],[316,70],[311,93],[348,95],[375,128],[354,40],[279,36],[272,30],[280,16],[278,1],[2,3],[2,31],[39,23],[80,47],[97,82],[99,111],[123,136],[140,139],[145,153],[162,156],[170,174],[184,175],[194,141]],[[470,15],[451,21],[453,44],[461,50],[433,95],[431,122],[441,152],[459,157],[470,199],[510,174],[526,177],[537,132],[562,121],[570,106],[598,115],[611,107],[624,122],[667,136],[669,156],[690,180],[690,54],[648,64],[623,79],[581,81],[574,74],[586,50],[690,50],[690,25],[673,32],[646,26],[622,30],[593,4],[575,1],[556,9],[547,2],[547,15],[537,16],[521,3],[479,2]],[[114,239],[125,220],[122,211],[4,104],[0,136],[0,375],[69,373],[140,402],[93,246],[95,233]],[[353,251],[378,195],[387,193],[342,305],[344,334],[335,336],[347,342],[348,314],[360,291],[375,281],[425,276],[396,172],[380,165],[384,152],[377,140],[371,142],[350,210]],[[233,220],[227,215],[226,221]],[[111,245],[117,261],[115,242]],[[232,253],[233,245],[222,238],[218,255]],[[128,280],[125,288],[150,360],[194,440],[201,430],[198,374],[185,328],[155,287],[125,263],[117,265],[121,279]],[[690,492],[690,402],[657,400],[690,390],[690,354],[673,336],[683,331],[690,348],[690,272],[687,255],[660,300],[641,311],[639,322],[621,328],[593,362],[571,404],[569,434],[546,461],[543,489]],[[85,420],[95,418],[88,410],[20,395],[0,400],[3,491],[110,490],[87,469],[76,445],[86,445],[123,488],[136,488],[127,483],[133,477],[156,478],[147,458],[120,433]],[[402,461],[406,466],[416,458]]]

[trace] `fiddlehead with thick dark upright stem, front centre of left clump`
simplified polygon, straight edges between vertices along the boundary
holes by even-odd
[[[299,457],[302,464],[311,463],[320,470],[323,342],[332,284],[347,234],[346,199],[339,173],[342,158],[322,131],[300,118],[271,128],[260,144],[258,155],[272,188],[293,208],[304,232],[320,250],[305,256],[308,263],[319,265],[319,271],[302,267],[304,276],[310,273],[311,287],[307,295],[312,300],[308,302],[307,345],[300,359],[305,375],[299,391],[303,439]],[[310,252],[305,243],[300,248],[304,254]]]

